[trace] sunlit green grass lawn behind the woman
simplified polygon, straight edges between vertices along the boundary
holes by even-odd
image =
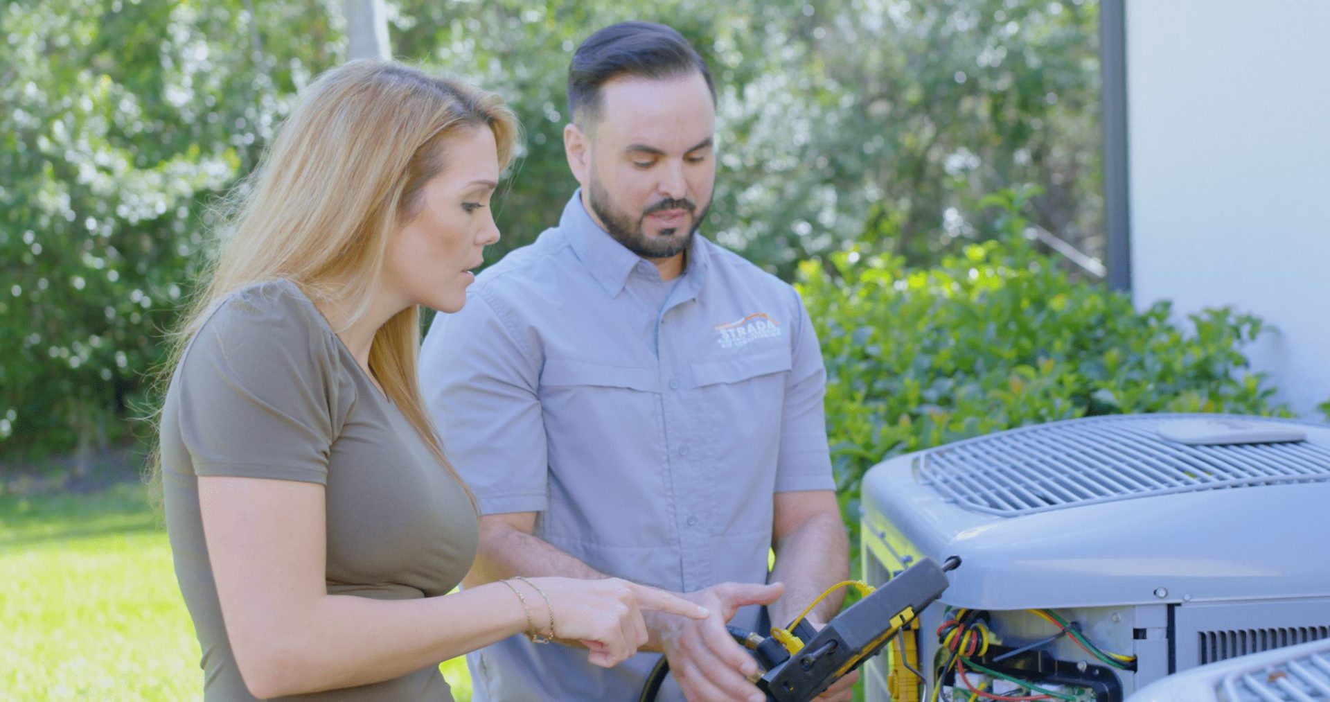
[[[0,701],[197,699],[198,641],[142,485],[0,495]],[[462,659],[443,663],[471,699]]]

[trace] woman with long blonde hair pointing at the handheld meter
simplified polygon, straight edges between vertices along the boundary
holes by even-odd
[[[466,303],[516,130],[493,94],[348,64],[309,86],[237,203],[160,427],[205,698],[451,699],[438,663],[504,637],[612,666],[645,642],[641,610],[705,617],[617,580],[446,594],[476,512],[416,387],[416,306]]]

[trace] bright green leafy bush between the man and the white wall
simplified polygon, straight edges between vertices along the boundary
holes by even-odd
[[[861,480],[888,456],[1088,415],[1289,413],[1242,352],[1261,319],[1218,308],[1180,324],[1168,302],[1137,310],[1125,294],[1073,281],[1023,235],[1024,202],[1015,191],[986,198],[1005,238],[931,269],[858,251],[799,266],[855,546]]]

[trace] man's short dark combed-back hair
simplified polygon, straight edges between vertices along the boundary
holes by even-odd
[[[600,88],[618,76],[673,78],[697,70],[716,101],[716,85],[706,62],[682,35],[664,24],[612,24],[577,47],[568,66],[568,116],[589,128],[600,116]]]

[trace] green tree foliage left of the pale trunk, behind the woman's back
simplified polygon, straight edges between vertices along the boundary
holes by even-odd
[[[335,60],[323,8],[57,0],[0,9],[0,441],[114,436],[189,294],[203,205]],[[299,37],[281,29],[299,24]],[[274,58],[279,56],[281,58]]]

